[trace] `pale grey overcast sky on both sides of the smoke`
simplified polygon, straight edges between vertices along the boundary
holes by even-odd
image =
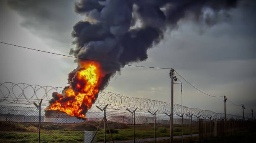
[[[212,26],[180,20],[177,29],[148,50],[148,59],[131,63],[172,67],[205,93],[226,95],[235,104],[256,109],[256,2],[242,1],[230,17]],[[20,3],[0,1],[0,41],[59,54],[74,48],[72,27],[83,15],[72,0]],[[67,86],[74,59],[0,44],[0,83]],[[206,96],[182,81],[182,105],[223,113],[223,98]],[[127,67],[111,79],[104,92],[170,102],[167,69]],[[180,85],[174,85],[174,103],[181,104]],[[251,111],[246,110],[246,116]],[[227,102],[227,113],[241,115],[241,106]]]

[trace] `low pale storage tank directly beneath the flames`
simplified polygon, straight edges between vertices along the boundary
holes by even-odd
[[[58,110],[45,110],[44,111],[44,122],[50,123],[81,123],[86,121],[86,118],[79,118],[70,116],[63,111]]]

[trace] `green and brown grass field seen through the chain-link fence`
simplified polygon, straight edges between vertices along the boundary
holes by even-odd
[[[99,123],[43,123],[41,126],[41,143],[83,143],[84,130],[95,131]],[[122,123],[108,123],[114,140],[133,140],[133,126]],[[169,136],[169,125],[157,124],[156,137]],[[97,133],[97,141],[104,141],[103,126]],[[195,128],[196,129],[196,128]],[[0,142],[36,143],[38,126],[33,123],[0,123]],[[193,130],[197,133],[197,130]],[[184,134],[190,134],[190,127],[184,127]],[[110,139],[110,134],[107,134]],[[174,126],[174,136],[181,135],[181,126]],[[136,125],[136,138],[154,138],[154,124]]]

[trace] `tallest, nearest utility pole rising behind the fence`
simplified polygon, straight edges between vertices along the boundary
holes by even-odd
[[[170,132],[170,142],[173,142],[173,75],[174,75],[174,69],[171,69],[170,76],[171,76],[171,132]]]

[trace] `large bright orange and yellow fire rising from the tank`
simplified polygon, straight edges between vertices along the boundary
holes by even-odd
[[[102,81],[100,64],[96,62],[79,62],[81,69],[70,79],[72,85],[63,94],[53,93],[54,100],[48,110],[63,111],[71,116],[86,118],[85,113],[92,107],[99,93]]]

